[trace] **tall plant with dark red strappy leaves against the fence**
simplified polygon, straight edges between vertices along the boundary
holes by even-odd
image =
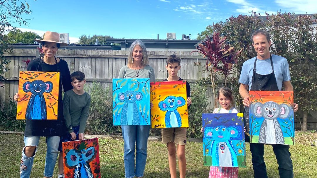
[[[238,64],[237,58],[241,55],[242,49],[238,52],[235,52],[233,47],[225,45],[227,37],[221,37],[219,33],[214,32],[212,40],[207,36],[205,44],[199,44],[196,49],[199,52],[204,54],[206,59],[206,69],[208,71],[208,66],[212,66],[210,71],[210,78],[212,84],[212,91],[214,96],[216,96],[214,80],[215,74],[217,71],[224,75],[225,85],[227,83],[227,77],[232,74],[233,64]],[[222,64],[219,64],[219,63]]]

